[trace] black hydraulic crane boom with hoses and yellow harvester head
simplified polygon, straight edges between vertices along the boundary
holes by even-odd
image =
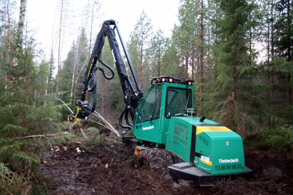
[[[121,56],[119,45],[115,36],[115,31],[114,31],[115,29],[119,36],[132,77],[128,75],[126,71],[126,67],[125,67],[123,58]],[[119,124],[121,125],[121,127],[125,129],[130,129],[132,126],[132,123],[129,121],[129,115],[133,120],[135,117],[135,110],[138,106],[140,99],[143,97],[143,93],[139,85],[139,81],[136,76],[132,61],[126,49],[125,43],[122,39],[119,27],[115,20],[104,21],[102,28],[97,35],[97,38],[96,38],[96,41],[90,56],[87,71],[83,78],[83,90],[82,90],[80,99],[77,101],[77,110],[76,110],[76,113],[70,116],[70,119],[75,120],[76,122],[83,121],[87,119],[90,113],[94,112],[96,102],[97,102],[97,98],[96,98],[96,80],[97,80],[96,71],[97,70],[101,71],[103,76],[106,79],[112,79],[114,77],[113,69],[105,61],[103,61],[103,59],[101,59],[102,49],[103,49],[106,37],[108,37],[108,40],[109,40],[110,48],[114,58],[114,63],[117,69],[117,74],[118,74],[120,84],[124,94],[125,108],[123,109],[120,115]],[[111,72],[111,75],[108,76],[105,73],[104,69],[97,64],[97,62],[100,62],[100,64],[108,68]],[[93,102],[91,106],[90,106],[90,103],[86,101],[87,90],[93,94]],[[127,124],[123,124],[123,118],[125,118],[125,121]]]

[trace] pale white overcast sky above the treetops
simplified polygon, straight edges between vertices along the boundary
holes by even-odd
[[[49,58],[53,42],[55,61],[57,61],[58,50],[60,2],[61,0],[27,0],[28,28],[33,30],[38,48],[45,51],[47,58]],[[89,0],[67,0],[64,5],[68,9],[68,14],[64,16],[62,60],[66,59],[72,41],[77,38],[79,27],[85,26],[88,31],[90,30],[82,22],[81,17],[83,7],[88,2]],[[166,36],[171,36],[174,24],[178,23],[180,0],[100,0],[100,3],[101,8],[97,18],[94,19],[93,36],[98,33],[104,20],[113,19],[118,21],[124,41],[127,42],[142,10],[151,19],[154,30],[160,28],[164,30]],[[85,15],[90,17],[91,13]]]

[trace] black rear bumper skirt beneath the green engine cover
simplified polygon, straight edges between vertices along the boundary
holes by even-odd
[[[180,179],[190,180],[195,186],[208,187],[212,186],[215,181],[232,180],[238,177],[249,178],[252,177],[253,172],[248,167],[245,167],[245,172],[241,174],[210,175],[187,162],[181,162],[169,166],[168,173],[175,181]]]

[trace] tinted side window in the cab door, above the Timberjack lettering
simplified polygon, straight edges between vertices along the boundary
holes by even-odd
[[[160,117],[161,91],[162,86],[160,85],[155,86],[151,89],[140,109],[137,123],[148,121],[151,119],[158,119]]]

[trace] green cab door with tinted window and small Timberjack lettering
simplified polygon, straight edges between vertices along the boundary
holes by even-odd
[[[153,86],[143,99],[142,105],[135,117],[134,136],[138,140],[157,142],[160,138],[160,115],[162,86]]]

